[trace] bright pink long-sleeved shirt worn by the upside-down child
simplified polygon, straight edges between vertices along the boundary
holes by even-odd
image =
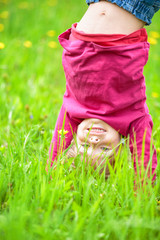
[[[137,31],[141,34],[144,29]],[[147,33],[145,32],[146,36]],[[62,63],[66,76],[66,92],[57,120],[50,148],[52,161],[57,156],[59,143],[57,130],[61,129],[66,112],[64,129],[68,130],[65,148],[70,145],[72,131],[86,118],[98,118],[123,136],[130,135],[130,150],[134,161],[141,153],[144,133],[144,166],[152,159],[152,174],[157,166],[154,146],[150,152],[152,119],[146,105],[146,86],[143,67],[148,60],[149,43],[101,46],[83,40],[71,41],[71,29],[59,36],[63,51]],[[136,146],[133,143],[136,134]],[[52,147],[54,145],[54,147]],[[53,148],[53,151],[52,151]],[[135,154],[136,152],[136,154]],[[135,163],[136,169],[136,163]]]

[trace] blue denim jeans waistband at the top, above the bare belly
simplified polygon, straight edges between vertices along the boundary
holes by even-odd
[[[108,2],[115,3],[119,7],[124,8],[128,12],[135,15],[137,18],[146,22],[146,25],[151,24],[153,15],[160,9],[160,0],[107,0]],[[86,0],[89,5],[99,0]]]

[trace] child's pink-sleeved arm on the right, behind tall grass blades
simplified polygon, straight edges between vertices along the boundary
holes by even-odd
[[[144,170],[144,175],[152,179],[156,178],[157,155],[152,143],[152,120],[149,115],[142,119],[133,122],[130,126],[130,150],[134,159],[135,173],[140,173],[141,181],[144,176],[141,176]],[[139,168],[139,170],[137,169]],[[147,171],[147,172],[146,172]]]

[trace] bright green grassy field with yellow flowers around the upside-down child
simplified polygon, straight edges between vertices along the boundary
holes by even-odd
[[[45,171],[65,90],[57,37],[86,9],[84,0],[0,0],[0,240],[160,239],[159,165],[157,185],[136,196],[127,149],[108,181],[63,157]],[[160,13],[147,31],[147,104],[160,160]]]

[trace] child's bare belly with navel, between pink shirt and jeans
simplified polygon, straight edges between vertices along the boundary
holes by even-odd
[[[116,4],[100,1],[89,5],[77,30],[91,34],[130,34],[144,25],[145,22]]]

